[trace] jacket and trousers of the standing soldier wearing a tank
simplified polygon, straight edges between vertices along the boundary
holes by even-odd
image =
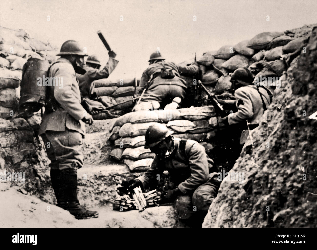
[[[49,92],[54,93],[58,107],[52,113],[44,112],[39,130],[51,160],[50,167],[60,170],[81,168],[81,145],[85,135],[85,124],[81,119],[86,110],[81,106],[81,93],[74,68],[67,59],[59,58],[50,68],[49,77],[63,79],[62,88],[49,86]]]

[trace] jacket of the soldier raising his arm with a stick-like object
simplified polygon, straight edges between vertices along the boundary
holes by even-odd
[[[113,57],[109,57],[109,60],[106,66],[103,67],[103,69],[94,69],[87,67],[87,72],[84,75],[76,73],[76,79],[78,80],[79,89],[81,91],[82,97],[89,97],[94,90],[94,80],[107,78],[115,69],[118,63],[119,61],[117,61]]]

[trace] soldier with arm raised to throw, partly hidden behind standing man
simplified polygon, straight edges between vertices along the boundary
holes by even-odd
[[[100,69],[101,64],[97,56],[89,56],[86,60],[88,67],[85,68],[84,72],[81,72],[83,74],[76,73],[82,97],[91,97],[94,92],[94,84],[92,83],[95,80],[107,78],[119,63],[119,61],[114,59],[116,53],[109,51],[108,55],[109,60],[103,69]]]

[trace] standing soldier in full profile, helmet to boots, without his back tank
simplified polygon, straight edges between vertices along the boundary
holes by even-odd
[[[81,46],[68,40],[61,46],[61,56],[49,70],[49,77],[61,77],[63,87],[49,86],[50,102],[45,107],[39,134],[46,146],[51,163],[50,175],[57,206],[68,210],[76,219],[98,217],[79,204],[77,199],[77,169],[83,165],[81,145],[85,135],[85,124],[91,125],[93,118],[81,105],[81,93],[75,72],[84,65]]]

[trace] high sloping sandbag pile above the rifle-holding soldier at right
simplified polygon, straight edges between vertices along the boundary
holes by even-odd
[[[210,91],[228,89],[232,80],[254,84],[256,77],[280,77],[298,53],[305,53],[308,32],[264,32],[236,45],[224,45],[198,58],[202,82]],[[260,80],[262,79],[260,78]],[[205,93],[201,95],[206,98]],[[204,103],[204,102],[203,102]],[[205,102],[208,103],[208,102]]]

